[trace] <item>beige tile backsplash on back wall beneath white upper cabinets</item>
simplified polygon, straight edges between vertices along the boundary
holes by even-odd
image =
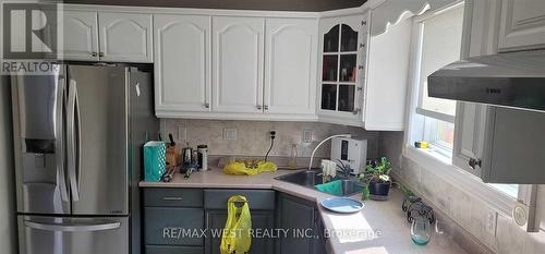
[[[235,130],[237,138],[229,140],[225,130]],[[367,140],[367,158],[377,157],[378,133],[362,128],[318,122],[268,122],[162,119],[161,133],[171,133],[178,146],[208,145],[210,155],[265,156],[269,148],[269,131],[276,131],[270,156],[290,156],[291,145],[298,145],[299,157],[310,157],[314,147],[325,137],[350,133],[354,138]],[[312,131],[312,142],[303,142],[303,132]],[[232,133],[231,133],[232,134]],[[316,157],[329,157],[330,143],[324,144]]]

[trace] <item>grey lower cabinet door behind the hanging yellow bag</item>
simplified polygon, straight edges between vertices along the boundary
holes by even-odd
[[[275,225],[274,210],[251,210],[254,238],[250,254],[274,253],[274,239],[266,235],[265,230],[271,232]],[[205,243],[206,254],[220,254],[221,230],[226,227],[227,210],[206,210],[206,228],[208,235]]]

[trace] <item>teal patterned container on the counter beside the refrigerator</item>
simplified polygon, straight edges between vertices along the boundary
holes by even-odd
[[[158,182],[167,171],[167,145],[150,141],[144,145],[144,181]]]

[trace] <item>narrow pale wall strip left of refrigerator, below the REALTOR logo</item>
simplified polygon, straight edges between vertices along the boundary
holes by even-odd
[[[7,76],[0,76],[0,253],[16,253],[15,189],[13,184],[11,95]]]

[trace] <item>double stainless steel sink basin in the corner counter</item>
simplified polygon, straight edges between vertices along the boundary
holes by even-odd
[[[315,171],[315,170],[299,171],[299,172],[289,173],[289,174],[278,177],[276,179],[283,181],[283,182],[289,182],[289,183],[298,184],[298,185],[301,185],[304,188],[313,189],[313,190],[316,190],[316,188],[314,188],[314,185],[323,183],[322,172]],[[363,184],[361,182],[359,182],[358,180],[344,179],[344,178],[340,178],[340,177],[337,177],[332,180],[341,180],[342,195],[340,195],[340,196],[350,196],[350,195],[353,195],[355,193],[362,192],[362,190],[363,190]]]

